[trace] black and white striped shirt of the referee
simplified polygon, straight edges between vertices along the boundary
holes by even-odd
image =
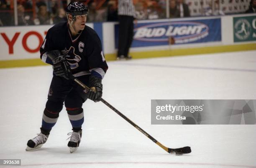
[[[118,0],[118,15],[134,16],[133,0]]]

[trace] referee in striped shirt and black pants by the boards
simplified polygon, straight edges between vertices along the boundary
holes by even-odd
[[[118,18],[119,18],[119,34],[118,34],[118,54],[117,59],[131,59],[128,55],[129,48],[133,41],[133,20],[134,20],[133,0],[118,0]]]

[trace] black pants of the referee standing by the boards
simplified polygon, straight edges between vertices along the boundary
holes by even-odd
[[[118,57],[128,56],[133,42],[133,16],[119,15]]]

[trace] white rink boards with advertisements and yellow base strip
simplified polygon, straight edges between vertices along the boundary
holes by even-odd
[[[44,65],[39,48],[52,25],[0,28],[0,68]],[[118,23],[87,23],[115,60]],[[171,37],[174,43],[171,43]],[[130,53],[134,59],[256,50],[256,15],[139,20]]]

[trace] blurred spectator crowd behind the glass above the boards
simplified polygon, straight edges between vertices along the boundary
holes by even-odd
[[[88,5],[87,22],[118,21],[118,0],[79,0]],[[137,20],[183,18],[190,16],[186,0],[133,0]],[[0,26],[15,25],[13,0],[0,0]],[[67,20],[67,0],[17,0],[18,25],[48,25]],[[166,10],[168,5],[169,10]],[[166,13],[169,11],[169,13]],[[250,0],[244,13],[256,13],[256,0]],[[209,0],[202,15],[225,15],[220,0]]]

